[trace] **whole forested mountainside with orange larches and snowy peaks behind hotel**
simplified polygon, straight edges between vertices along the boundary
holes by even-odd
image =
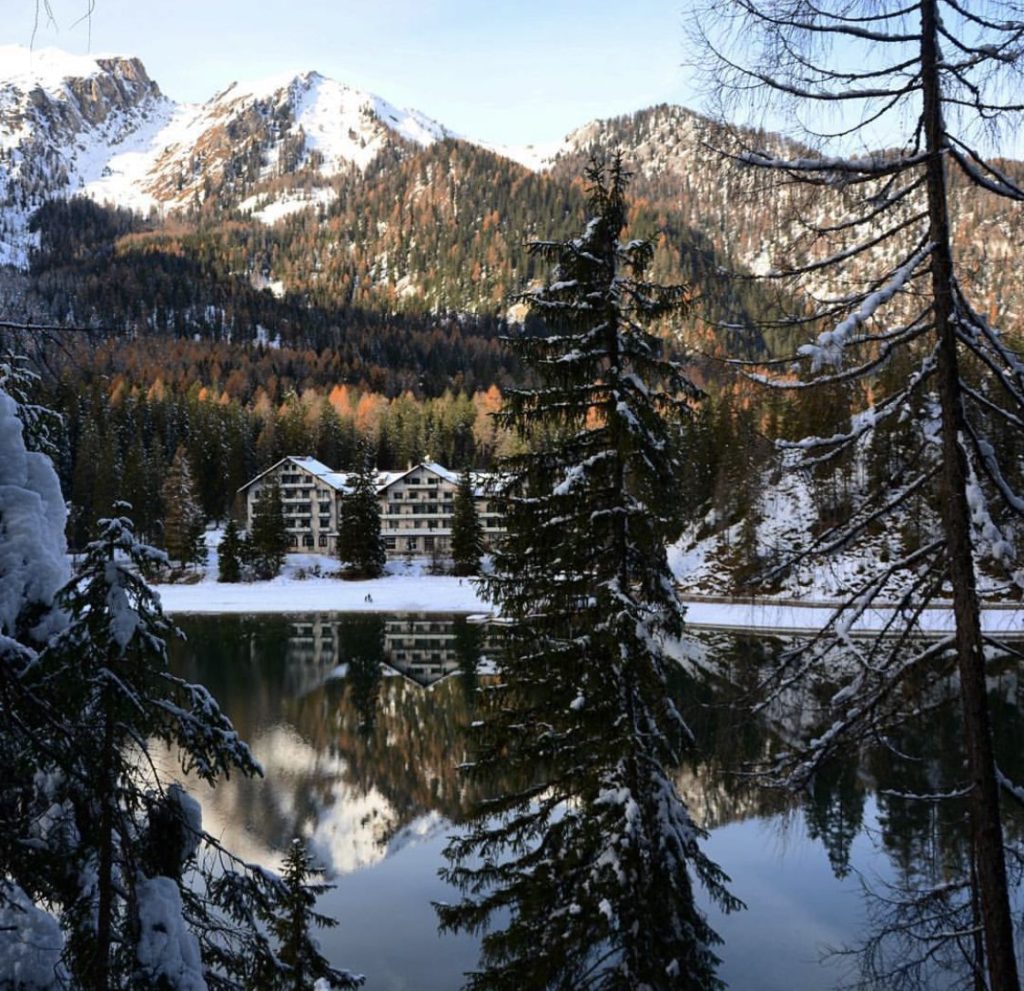
[[[178,113],[140,66],[109,72],[106,89],[72,86],[19,120],[35,115],[42,127],[55,115],[63,123],[46,133],[60,141],[90,121],[130,137],[125,115],[142,113],[142,133]],[[57,113],[60,99],[74,115]],[[325,100],[347,131],[316,130],[310,107]],[[864,386],[840,384],[769,395],[721,360],[791,354],[813,334],[790,318],[806,317],[812,303],[769,294],[751,276],[784,257],[813,261],[820,246],[801,255],[807,221],[841,216],[844,192],[767,195],[762,179],[719,154],[726,132],[682,107],[588,124],[540,169],[315,74],[278,89],[231,88],[188,127],[187,140],[120,198],[150,202],[145,211],[101,205],[110,183],[124,186],[116,156],[113,177],[90,183],[79,169],[88,196],[48,198],[61,176],[76,175],[73,150],[65,162],[52,148],[35,172],[23,164],[5,178],[9,205],[35,207],[34,247],[26,269],[6,270],[0,318],[75,328],[46,348],[44,378],[45,400],[65,415],[73,544],[119,498],[145,507],[139,527],[159,542],[160,479],[179,445],[211,518],[283,455],[348,467],[360,437],[382,468],[428,456],[488,466],[509,444],[489,414],[522,377],[502,338],[543,331],[510,302],[545,275],[526,246],[577,228],[595,148],[622,152],[634,174],[627,233],[653,239],[651,278],[689,287],[686,315],[657,328],[706,393],[685,432],[692,471],[680,484],[679,526],[694,541],[719,534],[716,557],[732,562],[734,585],[779,540],[777,507],[765,498],[778,479],[770,438],[839,429],[865,398]],[[794,150],[770,134],[740,137]],[[44,167],[50,159],[63,164],[54,172]],[[952,201],[970,289],[1014,333],[1022,306],[1007,260],[1024,239],[1021,219],[973,186]],[[825,298],[834,287],[823,278],[817,289]],[[838,518],[887,457],[847,465],[840,477],[849,484],[810,485],[816,522],[786,540]]]

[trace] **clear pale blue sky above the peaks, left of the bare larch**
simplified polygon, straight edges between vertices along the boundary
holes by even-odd
[[[87,15],[90,2],[91,15]],[[44,0],[39,0],[42,7]],[[659,102],[698,107],[685,0],[0,0],[0,43],[129,54],[170,97],[317,70],[466,137],[558,140]]]

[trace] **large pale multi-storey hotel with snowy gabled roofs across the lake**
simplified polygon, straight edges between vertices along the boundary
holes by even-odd
[[[486,493],[486,475],[473,474],[473,501],[489,547],[502,530]],[[292,551],[334,557],[338,521],[349,476],[332,471],[315,458],[283,458],[239,489],[245,498],[246,526],[252,528],[256,501],[264,488],[278,485]],[[403,472],[381,472],[377,494],[381,535],[389,560],[407,557],[446,559],[452,553],[452,516],[459,475],[435,462],[421,462]]]

